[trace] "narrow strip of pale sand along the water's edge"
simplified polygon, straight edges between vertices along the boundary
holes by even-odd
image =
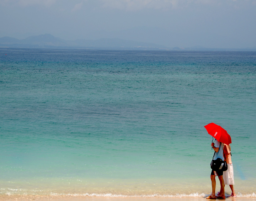
[[[237,198],[226,198],[230,201],[255,201],[256,198],[244,198],[244,197],[237,197]],[[89,196],[38,196],[38,195],[20,195],[20,196],[8,196],[8,195],[1,195],[1,201],[12,201],[12,200],[19,200],[19,201],[27,201],[27,200],[38,200],[38,201],[205,201],[205,197],[171,197],[171,198],[163,198],[163,197],[153,197],[153,198],[139,198],[139,197],[89,197]]]

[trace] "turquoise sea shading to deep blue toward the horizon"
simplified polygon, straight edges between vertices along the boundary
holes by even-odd
[[[214,122],[255,197],[255,73],[246,51],[0,48],[0,194],[205,196]]]

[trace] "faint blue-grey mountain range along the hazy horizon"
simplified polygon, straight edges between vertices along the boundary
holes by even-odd
[[[63,40],[56,38],[51,34],[30,36],[23,40],[11,37],[2,37],[0,38],[0,47],[101,50],[256,50],[256,47],[244,49],[205,48],[201,46],[189,48],[169,48],[164,45],[137,42],[133,40],[123,40],[118,38],[102,38],[99,40]]]

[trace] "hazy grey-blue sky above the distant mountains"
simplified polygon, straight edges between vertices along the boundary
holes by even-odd
[[[256,0],[0,0],[0,37],[256,47]]]

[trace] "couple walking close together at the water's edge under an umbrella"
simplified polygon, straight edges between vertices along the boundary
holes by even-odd
[[[212,186],[212,192],[211,195],[209,195],[206,199],[225,199],[225,191],[224,187],[225,185],[229,185],[232,191],[231,196],[229,197],[236,197],[235,191],[234,191],[234,173],[233,173],[233,166],[231,161],[231,152],[230,152],[230,145],[226,145],[224,143],[219,142],[218,140],[215,141],[215,144],[211,143],[212,149],[216,152],[214,156],[214,160],[217,158],[221,158],[224,161],[223,151],[226,157],[227,171],[211,171],[211,186]],[[216,188],[216,180],[215,177],[218,176],[221,184],[221,190],[217,194],[217,197],[215,196],[215,188]]]

